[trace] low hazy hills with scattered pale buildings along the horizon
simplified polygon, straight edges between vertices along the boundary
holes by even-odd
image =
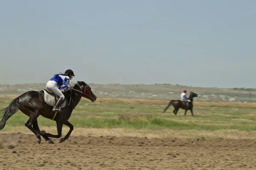
[[[70,83],[71,85],[74,82]],[[45,88],[44,83],[0,85],[0,94],[22,94],[26,91],[41,91]],[[195,100],[207,101],[238,101],[255,102],[256,89],[254,88],[204,88],[171,84],[153,85],[123,85],[123,84],[89,84],[93,93],[99,97],[115,98],[144,98],[144,99],[180,99],[180,93],[184,89],[199,94]]]

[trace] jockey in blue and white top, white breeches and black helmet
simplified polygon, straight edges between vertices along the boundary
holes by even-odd
[[[59,96],[55,106],[52,111],[57,111],[58,107],[61,105],[65,99],[64,94],[60,91],[61,89],[67,91],[72,90],[73,87],[68,87],[70,80],[73,78],[74,72],[70,69],[66,70],[65,73],[55,74],[46,84],[46,88],[49,92],[54,93]]]

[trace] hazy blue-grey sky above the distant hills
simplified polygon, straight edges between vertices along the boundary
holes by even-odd
[[[1,0],[0,82],[256,87],[256,0]]]

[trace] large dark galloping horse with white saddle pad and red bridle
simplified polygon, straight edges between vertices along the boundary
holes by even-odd
[[[13,99],[11,104],[7,108],[0,110],[0,112],[3,111],[3,115],[1,116],[2,119],[0,121],[0,130],[3,129],[6,121],[12,115],[14,115],[14,113],[20,110],[21,112],[29,116],[29,119],[25,123],[25,126],[28,127],[29,130],[31,130],[33,133],[35,133],[38,144],[41,143],[41,136],[43,136],[43,138],[49,143],[53,143],[52,140],[49,139],[49,137],[60,138],[62,126],[67,125],[68,127],[70,127],[70,130],[67,135],[64,138],[61,138],[59,141],[64,142],[66,139],[69,138],[71,132],[73,131],[73,125],[68,122],[68,119],[70,118],[73,109],[79,103],[80,99],[82,97],[85,97],[94,102],[97,98],[91,91],[89,85],[87,85],[85,82],[78,81],[77,84],[74,85],[72,91],[63,92],[66,100],[66,105],[64,108],[61,108],[61,112],[55,114],[52,111],[52,105],[54,105],[54,102],[56,102],[57,98],[56,96],[54,96],[54,94],[49,94],[49,92],[47,94],[45,93],[47,93],[47,91],[27,91],[26,93],[21,94],[17,98]],[[37,118],[40,115],[56,121],[58,135],[52,135],[51,133],[46,133],[44,130],[39,130]]]

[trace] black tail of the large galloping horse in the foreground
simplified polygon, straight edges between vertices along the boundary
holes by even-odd
[[[6,121],[19,110],[20,105],[18,103],[18,99],[18,97],[13,99],[8,107],[0,110],[0,117],[2,118],[0,121],[0,130],[3,129]]]

